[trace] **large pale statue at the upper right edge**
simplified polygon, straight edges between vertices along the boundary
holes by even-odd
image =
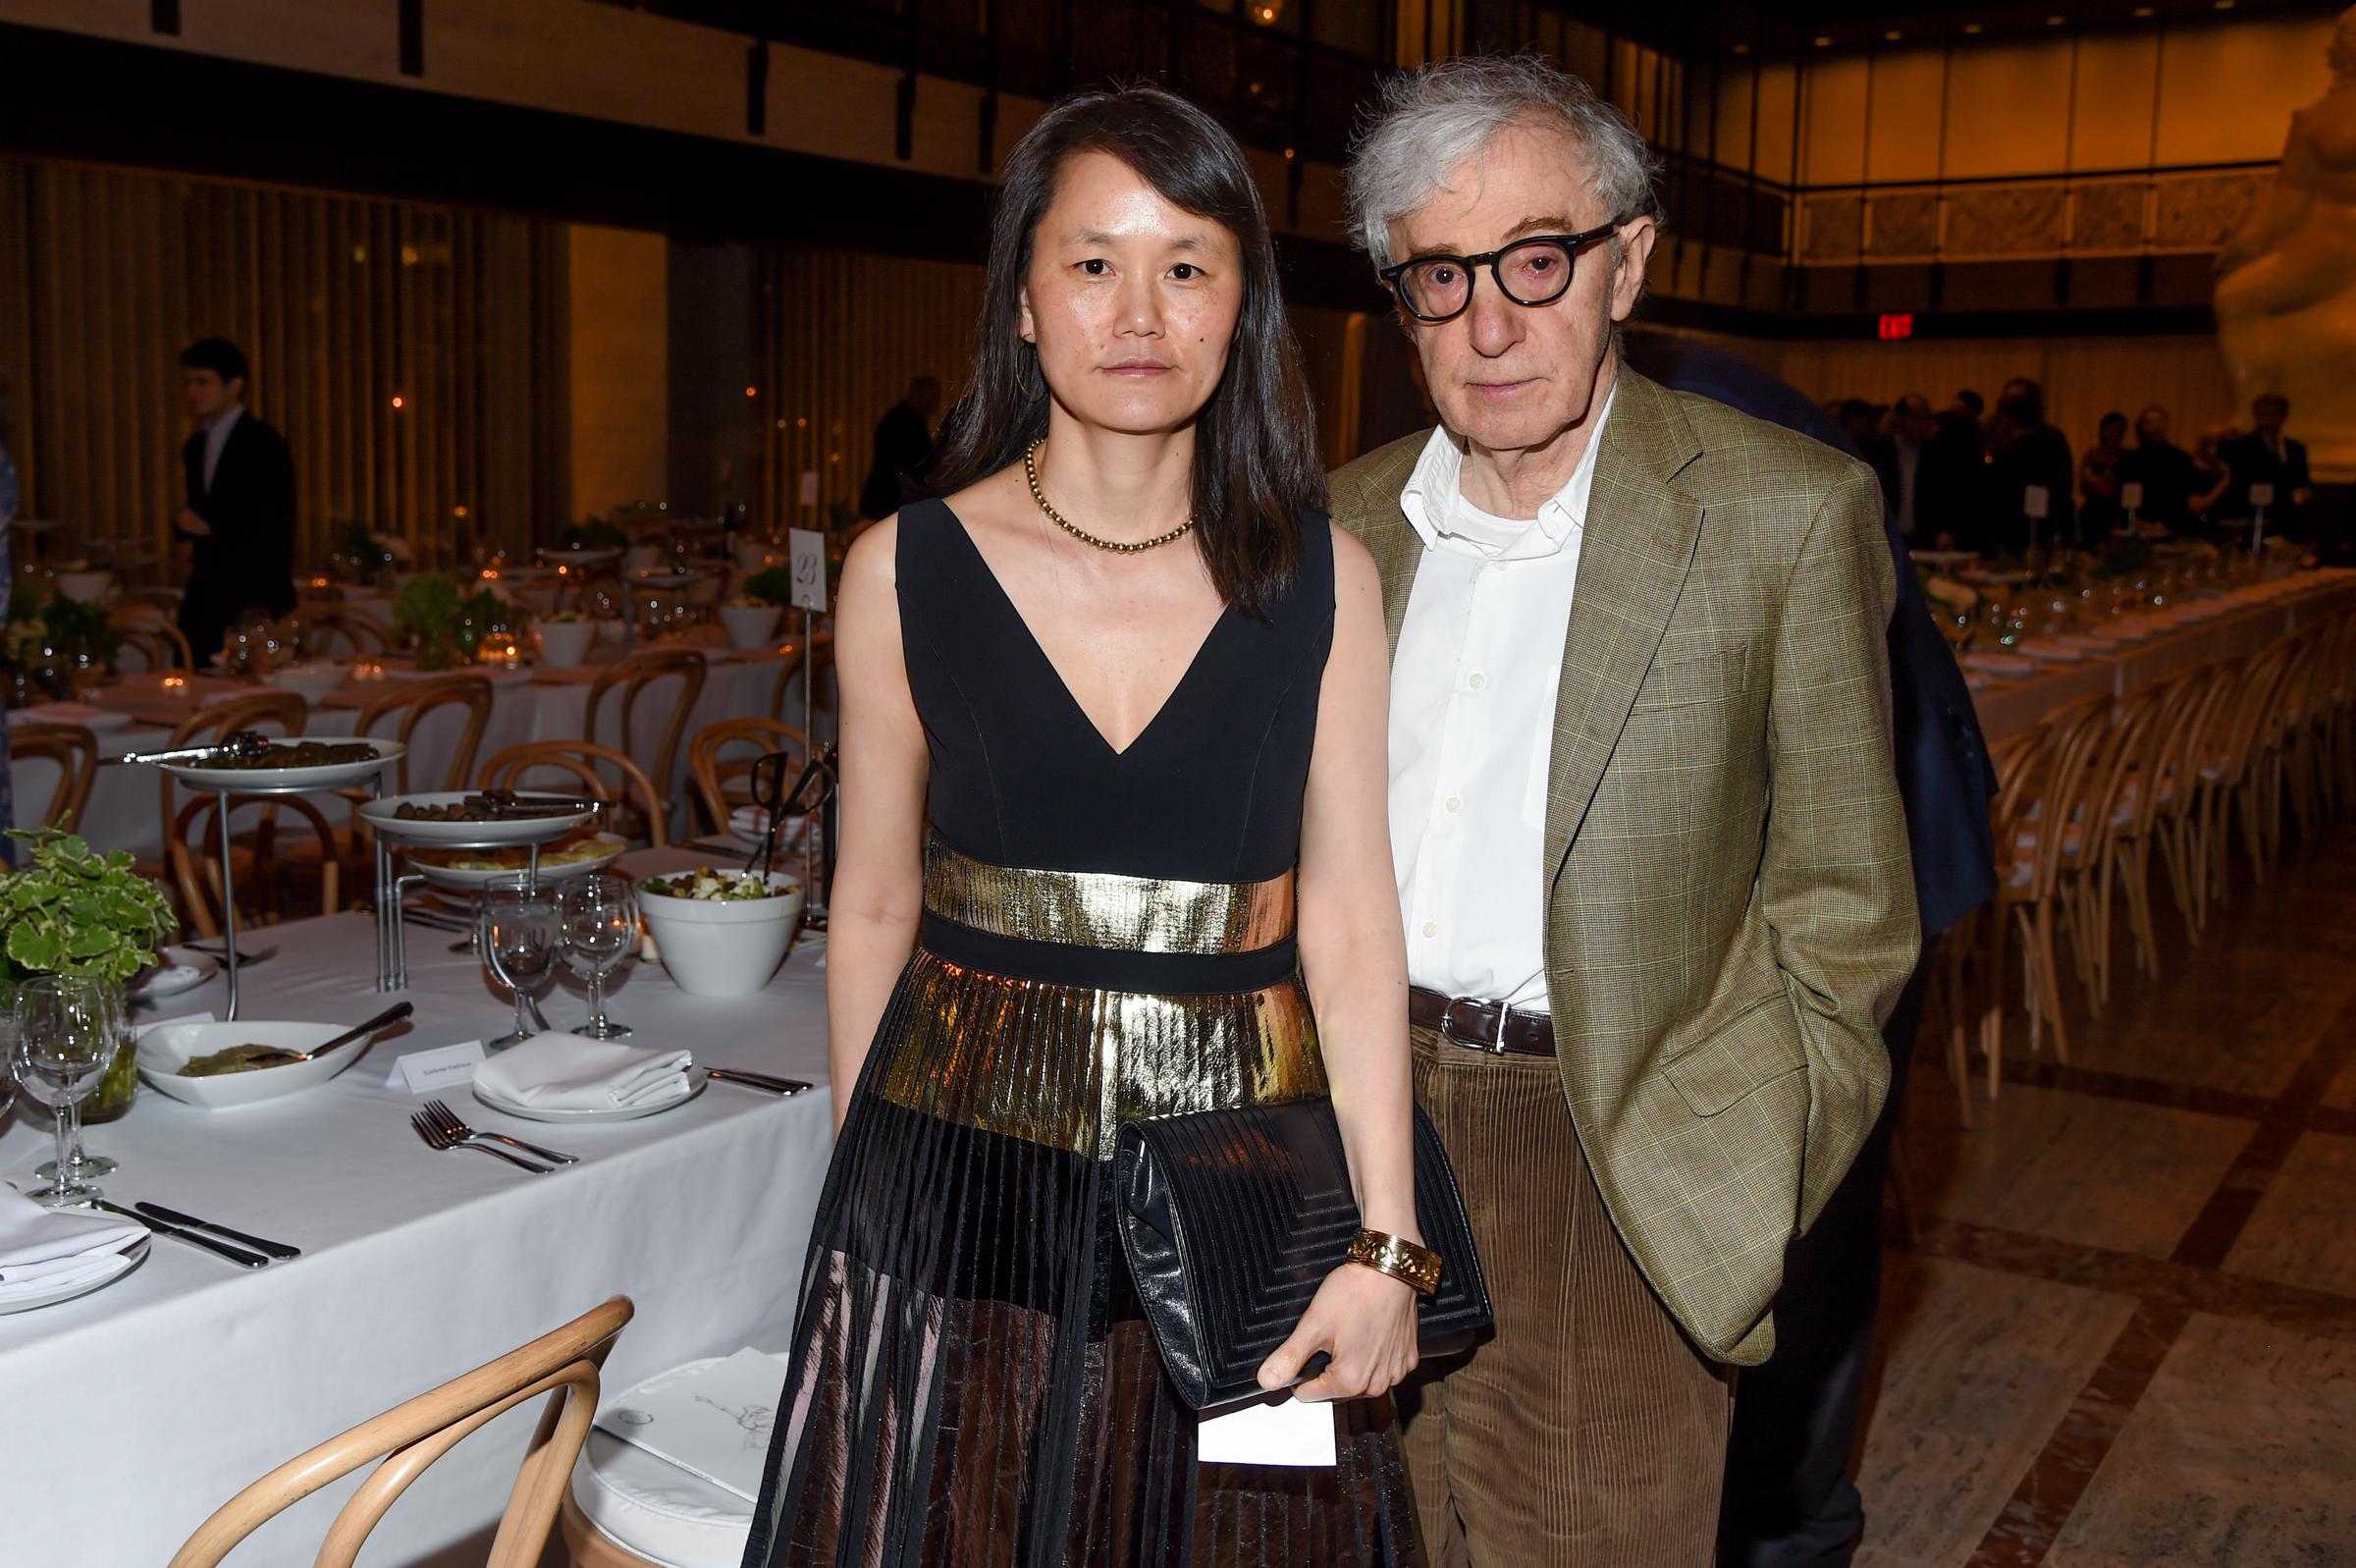
[[[2217,342],[2238,401],[2290,396],[2316,479],[2356,479],[2356,9],[2332,90],[2290,116],[2274,186],[2217,252]]]

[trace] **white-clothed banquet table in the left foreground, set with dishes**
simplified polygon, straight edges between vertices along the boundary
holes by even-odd
[[[683,861],[641,851],[622,865]],[[358,1021],[384,1000],[368,915],[250,941],[278,957],[245,971],[247,1016]],[[787,1346],[829,1151],[822,943],[799,946],[744,1000],[681,995],[643,962],[613,990],[634,1045],[690,1045],[714,1066],[806,1078],[810,1094],[714,1082],[674,1111],[587,1127],[504,1118],[464,1087],[443,1094],[476,1127],[582,1155],[547,1177],[434,1153],[408,1127],[422,1096],[386,1087],[398,1056],[509,1026],[507,997],[448,946],[412,927],[412,1033],[379,1040],[327,1085],[243,1111],[141,1087],[123,1120],[90,1129],[90,1148],[123,1162],[101,1184],[108,1198],[165,1203],[304,1254],[240,1271],[158,1238],[115,1285],[0,1316],[0,1563],[160,1568],[276,1464],[610,1294],[638,1313],[605,1365],[608,1391],[693,1356]],[[144,1016],[219,1004],[210,981]],[[542,1007],[558,1028],[584,1016],[577,990]],[[0,1179],[31,1186],[45,1158],[47,1125],[28,1108],[0,1120]],[[436,1464],[363,1561],[488,1547],[535,1419],[537,1405],[511,1412]],[[311,1563],[356,1483],[297,1504],[231,1561]]]

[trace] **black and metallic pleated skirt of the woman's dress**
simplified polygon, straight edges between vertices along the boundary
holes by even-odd
[[[749,1568],[1421,1563],[1390,1401],[1197,1464],[1112,1226],[1131,1115],[1324,1092],[1298,979],[1147,995],[919,948],[827,1172]]]

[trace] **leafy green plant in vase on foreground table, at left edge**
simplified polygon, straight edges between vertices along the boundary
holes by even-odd
[[[132,870],[127,849],[94,851],[54,828],[9,830],[24,870],[0,872],[0,990],[35,974],[99,979],[123,988],[155,962],[155,943],[179,924],[163,887]],[[123,1115],[139,1089],[130,1030],[106,1078],[82,1103],[85,1122]]]

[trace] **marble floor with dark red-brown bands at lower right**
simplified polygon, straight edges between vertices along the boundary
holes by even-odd
[[[1859,1568],[2356,1568],[2356,825],[2231,896],[1972,1127],[1925,1033]]]

